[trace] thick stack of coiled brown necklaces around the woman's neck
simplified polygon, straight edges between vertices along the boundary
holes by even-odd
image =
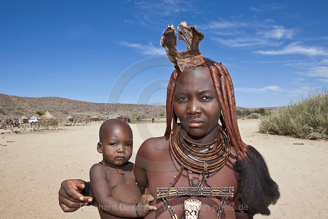
[[[217,127],[217,135],[213,142],[205,144],[191,142],[182,135],[179,124],[173,127],[169,141],[172,154],[181,166],[197,174],[204,175],[205,170],[205,176],[221,169],[230,154],[229,136],[220,125]],[[214,146],[208,151],[197,151],[191,148],[190,144],[208,147],[214,144]]]

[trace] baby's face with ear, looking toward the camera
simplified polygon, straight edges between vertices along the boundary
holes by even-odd
[[[120,166],[129,161],[132,156],[132,130],[122,126],[113,126],[103,135],[101,146],[97,150],[103,154],[107,164]]]

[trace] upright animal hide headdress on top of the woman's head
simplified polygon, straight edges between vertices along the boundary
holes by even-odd
[[[204,64],[204,58],[199,52],[198,44],[204,39],[204,34],[197,31],[194,26],[189,27],[186,22],[178,26],[178,39],[186,43],[187,51],[176,51],[176,36],[174,26],[169,26],[163,33],[161,46],[165,49],[167,57],[174,67],[181,72],[187,68]]]

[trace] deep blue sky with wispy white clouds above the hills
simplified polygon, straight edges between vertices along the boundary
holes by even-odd
[[[237,105],[287,105],[327,87],[327,6],[327,1],[0,1],[0,93],[107,102],[125,70],[165,55],[159,44],[163,30],[187,21],[204,33],[202,55],[230,72]],[[182,41],[177,50],[185,50]],[[161,88],[174,70],[168,63],[123,76],[128,82],[118,89],[118,102],[139,103],[147,85],[161,83],[147,91],[148,103],[164,103]]]

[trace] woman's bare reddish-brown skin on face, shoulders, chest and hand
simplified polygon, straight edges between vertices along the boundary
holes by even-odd
[[[217,134],[217,122],[220,117],[220,105],[215,93],[215,87],[210,74],[210,70],[206,67],[199,66],[189,68],[180,73],[175,87],[174,97],[174,113],[181,122],[183,135],[195,143],[211,142]],[[189,122],[189,120],[200,120],[201,122]],[[196,127],[198,126],[198,127]],[[174,176],[178,173],[180,165],[174,159],[169,148],[169,136],[151,138],[146,140],[139,148],[134,168],[136,182],[141,186],[148,186],[147,194],[156,196],[156,187],[170,187],[170,183],[174,180]],[[201,150],[194,148],[195,150]],[[234,198],[229,201],[235,203],[237,209],[245,209],[239,199],[239,173],[233,168],[236,161],[236,155],[233,147],[227,163],[217,172],[212,173],[207,182],[210,186],[233,186]],[[194,182],[197,182],[199,175],[194,175]],[[62,191],[59,191],[60,203],[71,203],[72,207],[78,206],[80,201],[76,201],[81,194],[73,194],[74,199],[69,199],[68,194],[63,190],[70,187],[71,184],[78,184],[80,181],[66,181],[62,185]],[[64,182],[63,182],[64,183]],[[187,171],[184,170],[180,179],[175,184],[176,187],[189,186]],[[202,183],[201,186],[206,186]],[[66,189],[65,189],[66,188]],[[87,200],[88,197],[83,197]],[[189,197],[170,197],[169,200],[174,206],[177,217],[184,218],[184,200]],[[202,202],[202,209],[199,212],[198,219],[216,218],[217,206],[220,200],[213,197],[199,197]],[[82,204],[84,205],[84,204]],[[163,202],[155,205],[156,211],[150,211],[144,217],[145,219],[167,219],[170,218],[169,211],[164,209]],[[73,211],[74,208],[69,208]],[[246,209],[245,209],[246,210]],[[252,219],[253,217],[247,213],[235,212],[232,207],[227,205],[222,219]]]

